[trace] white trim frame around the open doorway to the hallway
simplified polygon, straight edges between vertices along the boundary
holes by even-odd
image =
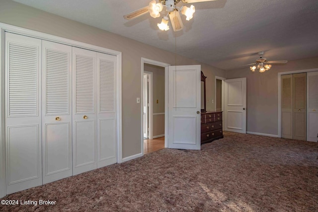
[[[168,147],[168,67],[170,64],[162,63],[159,61],[154,61],[147,58],[141,58],[141,104],[144,105],[144,98],[143,98],[143,91],[144,91],[144,64],[150,64],[154,66],[159,66],[164,68],[164,147]],[[144,107],[141,107],[141,117],[143,117],[144,114]],[[144,155],[144,128],[143,128],[143,118],[141,118],[141,154]]]

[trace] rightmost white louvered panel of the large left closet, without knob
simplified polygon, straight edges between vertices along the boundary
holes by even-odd
[[[97,167],[117,162],[116,57],[97,53]]]

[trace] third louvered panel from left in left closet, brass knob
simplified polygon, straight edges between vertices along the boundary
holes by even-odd
[[[73,47],[73,175],[97,168],[96,52]]]

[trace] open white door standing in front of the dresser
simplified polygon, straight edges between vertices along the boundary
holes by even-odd
[[[201,66],[168,70],[168,148],[201,149]]]

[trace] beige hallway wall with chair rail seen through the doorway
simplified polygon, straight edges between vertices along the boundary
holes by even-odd
[[[145,64],[144,71],[153,73],[153,113],[164,113],[164,68]],[[164,135],[164,114],[153,116],[153,136],[160,135]]]

